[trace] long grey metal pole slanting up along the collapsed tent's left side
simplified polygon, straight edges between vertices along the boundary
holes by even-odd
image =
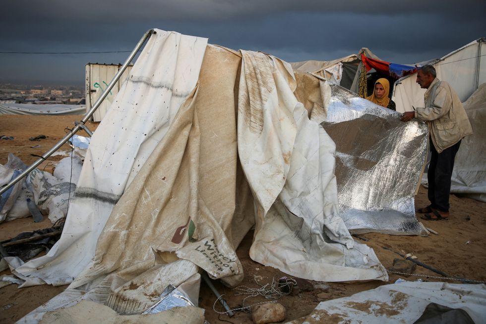
[[[56,152],[78,130],[84,129],[83,128],[84,127],[84,124],[91,118],[91,116],[93,116],[94,112],[98,109],[98,107],[101,105],[101,103],[103,102],[103,100],[105,100],[105,98],[108,96],[108,94],[110,93],[110,91],[113,89],[113,87],[115,86],[115,84],[118,82],[118,80],[122,76],[122,74],[125,71],[126,67],[131,63],[131,61],[133,60],[133,58],[137,54],[138,50],[142,47],[142,45],[145,43],[145,41],[152,34],[155,34],[155,33],[156,32],[153,29],[150,29],[150,30],[148,30],[143,35],[143,37],[138,41],[138,43],[135,46],[135,48],[133,49],[133,51],[130,53],[130,56],[128,56],[128,59],[126,59],[125,63],[123,63],[123,65],[120,68],[120,70],[118,70],[118,73],[115,74],[115,76],[113,77],[113,79],[110,82],[110,84],[108,85],[108,87],[105,89],[105,91],[103,91],[103,93],[101,94],[101,97],[99,97],[98,100],[96,100],[96,102],[93,105],[93,107],[91,107],[91,109],[86,113],[86,115],[84,115],[83,119],[80,122],[78,122],[78,124],[70,132],[68,132],[64,137],[62,137],[62,139],[56,145],[54,145],[53,148],[51,148],[49,151],[47,151],[46,153],[44,153],[40,159],[38,159],[37,161],[35,161],[31,166],[29,166],[26,170],[24,170],[17,177],[15,177],[14,179],[10,180],[10,182],[8,184],[4,185],[0,189],[0,194],[3,194],[4,192],[6,192],[10,187],[12,187],[13,185],[15,185],[17,182],[19,182],[20,180],[22,180],[22,178],[24,178],[27,174],[29,174],[32,170],[34,170],[39,164],[41,164],[42,162],[44,162],[45,159],[47,159],[54,152]]]

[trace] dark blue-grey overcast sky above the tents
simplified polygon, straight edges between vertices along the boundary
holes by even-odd
[[[413,64],[486,36],[485,0],[15,0],[1,8],[0,52],[131,51],[159,28],[287,62],[367,47],[382,60]],[[0,54],[0,80],[82,85],[86,63],[127,56]]]

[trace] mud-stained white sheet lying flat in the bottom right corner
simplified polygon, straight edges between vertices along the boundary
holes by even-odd
[[[319,303],[298,323],[413,324],[430,303],[462,309],[474,323],[485,323],[486,286],[404,281]]]

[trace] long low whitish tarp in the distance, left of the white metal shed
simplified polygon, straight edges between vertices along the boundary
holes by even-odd
[[[85,105],[0,104],[0,115],[83,115]]]

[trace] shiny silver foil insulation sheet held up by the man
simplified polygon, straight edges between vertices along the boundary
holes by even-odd
[[[414,195],[426,156],[428,129],[417,121],[331,85],[321,124],[336,143],[341,216],[353,233],[426,235]]]

